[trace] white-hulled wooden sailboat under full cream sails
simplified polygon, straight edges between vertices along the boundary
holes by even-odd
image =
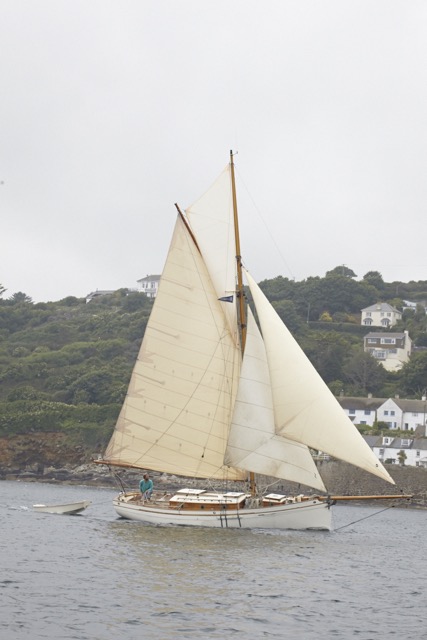
[[[115,511],[150,524],[330,530],[335,498],[311,450],[394,481],[243,266],[233,152],[199,200],[176,208],[128,393],[96,462],[191,486],[150,500],[123,490]],[[314,492],[259,493],[261,476]]]

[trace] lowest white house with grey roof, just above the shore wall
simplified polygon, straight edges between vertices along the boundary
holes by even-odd
[[[409,467],[427,467],[427,438],[365,436],[378,460]]]

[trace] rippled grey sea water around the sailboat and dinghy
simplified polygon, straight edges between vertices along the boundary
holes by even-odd
[[[154,527],[115,491],[0,482],[0,638],[427,638],[427,511],[334,507],[333,532]],[[80,515],[35,503],[92,501]]]

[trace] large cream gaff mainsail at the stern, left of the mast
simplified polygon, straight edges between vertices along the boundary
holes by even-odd
[[[199,478],[246,478],[223,462],[241,364],[224,305],[178,216],[106,462]]]

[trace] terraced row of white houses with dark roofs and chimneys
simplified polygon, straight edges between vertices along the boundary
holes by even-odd
[[[386,422],[389,429],[421,431],[427,436],[427,398],[355,398],[340,396],[338,402],[354,424],[373,426],[375,421]]]

